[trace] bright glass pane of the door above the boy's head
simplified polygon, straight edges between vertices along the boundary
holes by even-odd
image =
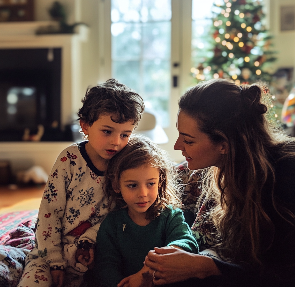
[[[112,77],[142,96],[168,126],[171,0],[112,0]]]

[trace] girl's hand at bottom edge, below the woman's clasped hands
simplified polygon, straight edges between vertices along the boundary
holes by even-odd
[[[135,274],[132,274],[124,279],[117,285],[118,287],[152,287],[153,276],[150,275],[149,269],[147,266],[143,266],[140,271]]]

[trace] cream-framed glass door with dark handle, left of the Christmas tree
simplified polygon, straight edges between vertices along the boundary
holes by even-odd
[[[98,82],[116,77],[158,112],[169,138],[161,147],[175,162],[184,160],[181,151],[173,149],[178,100],[192,84],[191,4],[192,0],[98,3]]]

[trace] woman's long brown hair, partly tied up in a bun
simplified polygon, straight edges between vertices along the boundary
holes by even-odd
[[[275,232],[263,196],[271,197],[275,212],[294,226],[294,214],[274,196],[274,165],[294,157],[294,139],[271,127],[263,96],[268,96],[263,84],[241,87],[218,79],[191,88],[179,100],[212,142],[229,147],[221,167],[209,168],[203,181],[203,192],[216,201],[209,211],[218,230],[216,250],[223,259],[258,266]]]

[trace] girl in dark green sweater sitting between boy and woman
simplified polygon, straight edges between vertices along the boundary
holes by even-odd
[[[105,177],[108,205],[113,211],[96,238],[94,272],[99,286],[116,287],[129,275],[124,284],[148,284],[143,261],[155,246],[198,251],[177,208],[181,205],[178,176],[163,150],[147,138],[132,137],[108,162]]]

